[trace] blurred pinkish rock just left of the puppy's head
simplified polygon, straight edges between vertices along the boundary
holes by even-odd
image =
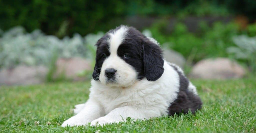
[[[82,81],[85,78],[79,77],[78,73],[83,72],[84,70],[92,70],[91,62],[75,57],[70,59],[60,58],[56,62],[57,72],[55,77],[65,75],[68,79],[74,79],[75,81]]]

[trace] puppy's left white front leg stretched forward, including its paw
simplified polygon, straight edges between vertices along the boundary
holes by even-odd
[[[98,102],[95,102],[92,99],[89,99],[84,108],[75,116],[66,120],[61,126],[80,126],[86,125],[94,119],[97,119],[103,116],[104,110]]]

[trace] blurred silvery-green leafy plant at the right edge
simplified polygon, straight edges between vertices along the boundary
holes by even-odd
[[[233,37],[237,47],[229,47],[227,52],[238,60],[246,60],[251,72],[256,73],[256,37],[240,35]]]

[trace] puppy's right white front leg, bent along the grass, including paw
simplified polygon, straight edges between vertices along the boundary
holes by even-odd
[[[148,119],[151,117],[156,117],[160,116],[157,112],[152,111],[147,111],[144,112],[143,109],[139,109],[137,107],[130,107],[130,106],[125,106],[125,107],[120,107],[112,110],[109,114],[106,116],[100,117],[98,119],[95,119],[94,121],[91,122],[91,126],[96,126],[97,123],[99,125],[105,125],[107,123],[118,123],[121,121],[126,121],[127,117],[131,117],[134,119]]]

